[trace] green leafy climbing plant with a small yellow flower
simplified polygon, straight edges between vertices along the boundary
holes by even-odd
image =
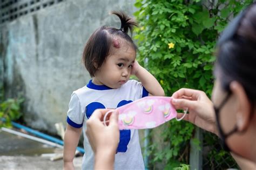
[[[166,96],[181,87],[203,90],[210,96],[216,40],[230,18],[250,3],[137,0],[134,16],[141,26],[134,38],[139,46],[138,60],[147,61],[144,66],[159,80]],[[161,135],[167,143],[164,151],[158,151],[159,144],[150,145],[152,166],[166,162],[166,167],[173,167],[177,160],[188,164],[193,125],[184,121],[167,124]]]

